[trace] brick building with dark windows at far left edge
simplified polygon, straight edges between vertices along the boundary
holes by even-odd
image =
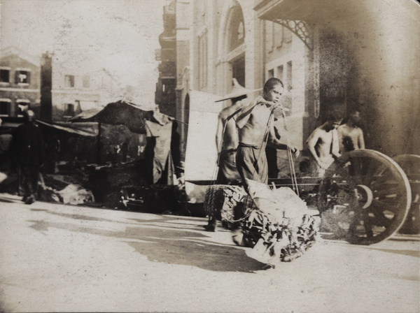
[[[19,117],[29,108],[39,117],[40,71],[40,59],[15,47],[1,51],[0,117]]]

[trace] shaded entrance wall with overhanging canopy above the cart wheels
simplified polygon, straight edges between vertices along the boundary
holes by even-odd
[[[346,114],[359,107],[367,148],[390,157],[420,153],[416,140],[419,3],[255,0],[254,4],[258,19],[285,25],[305,42],[302,82],[309,120],[304,128],[309,129],[304,135],[325,120],[328,110],[338,108]]]

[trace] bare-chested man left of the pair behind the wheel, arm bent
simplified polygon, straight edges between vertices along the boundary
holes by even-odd
[[[337,127],[342,122],[342,114],[338,111],[330,112],[327,122],[315,129],[307,140],[309,151],[316,161],[314,175],[323,177],[325,170],[340,157]]]

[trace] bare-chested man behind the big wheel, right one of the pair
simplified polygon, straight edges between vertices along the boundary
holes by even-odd
[[[359,124],[360,111],[354,109],[350,112],[348,121],[337,128],[339,152],[341,154],[352,150],[365,149],[365,138]]]

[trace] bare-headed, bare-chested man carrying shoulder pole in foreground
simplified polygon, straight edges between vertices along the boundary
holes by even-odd
[[[251,104],[242,108],[237,118],[239,145],[237,150],[237,169],[244,186],[246,178],[257,182],[268,182],[267,156],[265,154],[265,136],[267,145],[286,150],[285,145],[276,138],[272,111],[280,104],[283,94],[283,83],[278,78],[270,78],[265,82],[264,94],[258,96]],[[296,147],[290,150],[299,156]]]

